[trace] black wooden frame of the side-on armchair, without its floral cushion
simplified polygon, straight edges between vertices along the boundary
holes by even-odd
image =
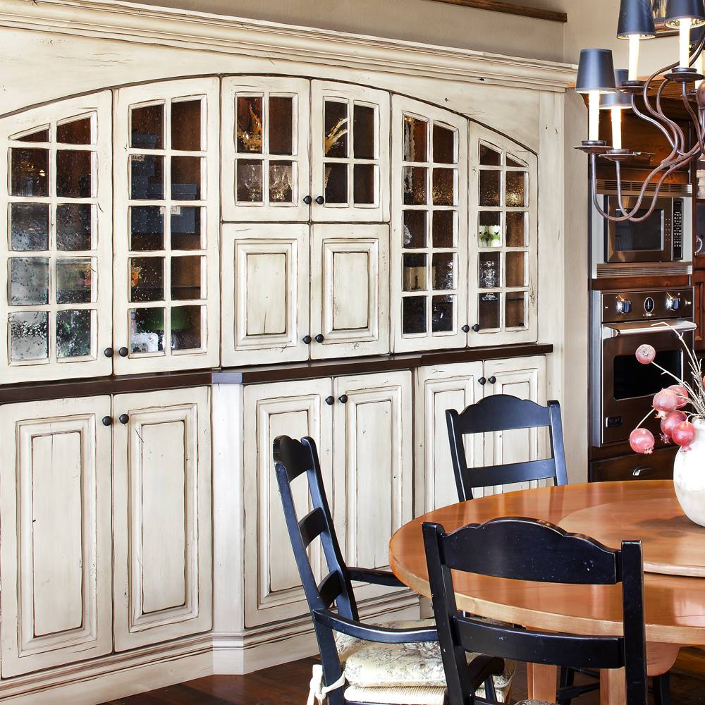
[[[406,642],[436,642],[436,629],[393,629],[365,625],[360,622],[357,613],[357,603],[353,593],[352,581],[387,585],[389,587],[405,587],[391,572],[384,570],[368,570],[364,568],[348,568],[343,561],[341,549],[336,537],[335,528],[326,499],[326,491],[321,475],[316,444],[313,439],[303,438],[296,441],[288,436],[278,436],[274,441],[274,467],[278,482],[281,501],[286,517],[291,546],[294,551],[296,565],[301,577],[306,599],[311,610],[311,616],[321,653],[324,684],[337,682],[342,675],[341,663],[333,631],[341,632],[359,639],[387,644]],[[313,509],[299,519],[293,503],[290,483],[301,474],[307,474],[309,494]],[[321,544],[326,558],[328,575],[317,583],[306,553],[307,547],[321,537]],[[331,610],[336,603],[337,613]],[[477,661],[477,663],[475,663]],[[480,656],[472,662],[473,680],[479,686],[485,682],[488,693],[494,693],[491,675],[502,672],[502,663],[496,658]],[[368,705],[355,701],[345,701],[343,692],[345,686],[329,692],[329,705]]]

